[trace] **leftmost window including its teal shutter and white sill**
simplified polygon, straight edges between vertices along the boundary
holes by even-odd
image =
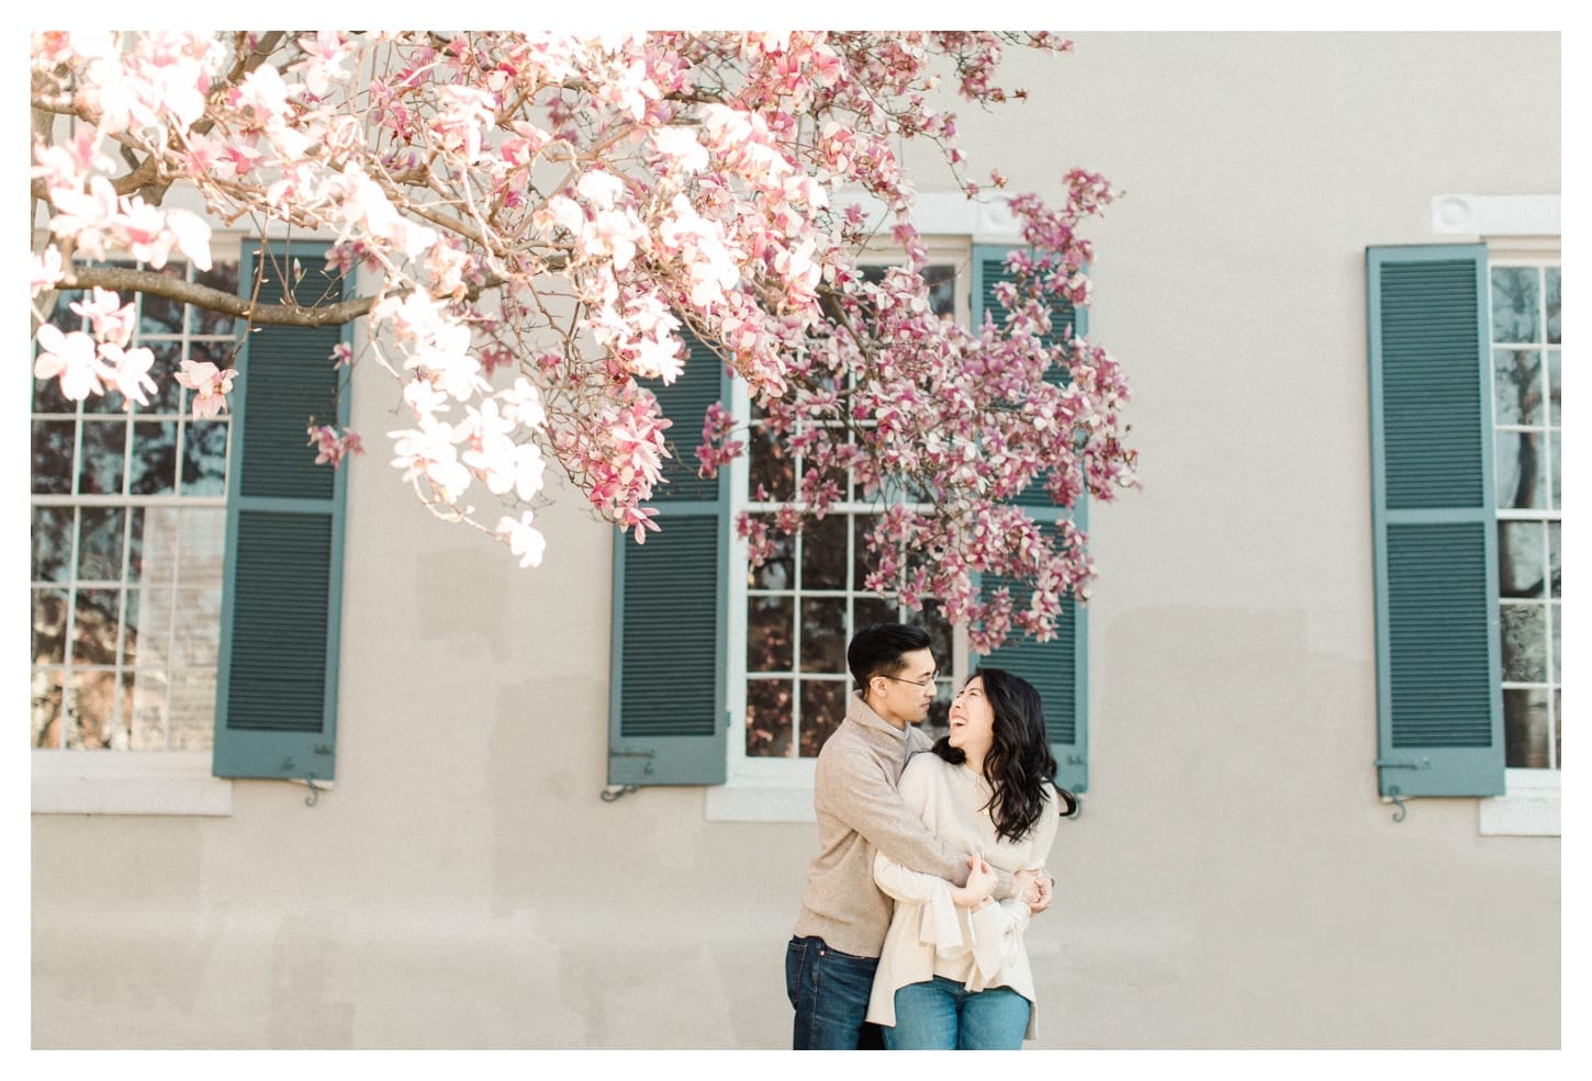
[[[282,255],[164,272],[232,291],[258,269],[272,304]],[[291,256],[301,298],[341,290],[318,252]],[[76,299],[51,314],[64,331],[81,326]],[[245,339],[226,315],[132,302],[161,376],[148,406],[33,385],[33,809],[228,814],[212,777],[333,775],[345,481],[314,465],[306,422],[347,416],[330,363],[342,333]],[[193,416],[170,377],[183,360],[236,365],[231,414]]]

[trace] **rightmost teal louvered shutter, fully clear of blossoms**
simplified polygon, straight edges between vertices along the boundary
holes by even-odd
[[[1383,796],[1503,793],[1487,248],[1366,250]]]

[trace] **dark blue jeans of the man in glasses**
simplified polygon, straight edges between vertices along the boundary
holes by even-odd
[[[793,938],[785,949],[785,993],[796,1008],[796,1051],[877,1051],[879,1025],[868,1017],[877,957],[831,949],[821,938]]]

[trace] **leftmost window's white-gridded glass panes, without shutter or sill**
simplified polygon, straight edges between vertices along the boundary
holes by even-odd
[[[237,261],[166,274],[236,291]],[[51,322],[83,330],[57,296]],[[231,419],[189,416],[183,360],[232,365],[236,323],[139,295],[134,345],[156,355],[150,404],[75,403],[33,380],[32,708],[53,750],[209,750],[213,742]],[[131,404],[131,409],[124,408]]]

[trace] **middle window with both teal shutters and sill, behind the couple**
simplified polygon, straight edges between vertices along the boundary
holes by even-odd
[[[936,310],[981,320],[1005,253],[965,242],[931,247]],[[1071,318],[1067,312],[1055,333]],[[1078,322],[1083,333],[1081,314]],[[933,608],[904,611],[893,597],[866,592],[858,556],[871,503],[842,503],[748,570],[732,517],[771,511],[793,492],[802,462],[759,439],[753,416],[748,454],[712,481],[696,476],[693,439],[708,404],[740,392],[700,344],[681,379],[651,388],[681,436],[678,457],[665,463],[672,482],[656,498],[662,532],[645,546],[615,543],[608,783],[710,785],[708,818],[810,818],[814,759],[852,688],[845,645],[855,629],[901,618],[930,630],[941,672],[930,734],[944,731],[954,688],[979,659],[965,630]],[[745,398],[732,406],[747,416]],[[1087,783],[1084,653],[1083,611],[1068,605],[1057,640],[1009,642],[990,658],[1040,686],[1057,780],[1073,791]]]

